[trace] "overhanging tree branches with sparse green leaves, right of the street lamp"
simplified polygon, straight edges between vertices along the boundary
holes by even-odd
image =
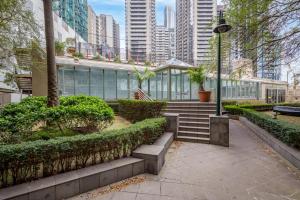
[[[300,55],[300,0],[224,0],[235,53],[253,61],[254,74]]]

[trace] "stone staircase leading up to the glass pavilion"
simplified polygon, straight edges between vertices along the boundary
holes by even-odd
[[[215,103],[169,102],[164,112],[179,114],[176,140],[208,144],[209,115],[215,114],[215,110]]]

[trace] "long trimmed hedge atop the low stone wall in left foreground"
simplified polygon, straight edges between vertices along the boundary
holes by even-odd
[[[2,145],[1,187],[129,156],[139,145],[153,143],[165,126],[165,118],[153,118],[125,129]]]

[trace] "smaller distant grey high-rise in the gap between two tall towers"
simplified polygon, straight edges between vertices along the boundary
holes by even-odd
[[[156,26],[155,58],[157,64],[164,64],[167,60],[169,60],[169,44],[169,29],[165,26]]]

